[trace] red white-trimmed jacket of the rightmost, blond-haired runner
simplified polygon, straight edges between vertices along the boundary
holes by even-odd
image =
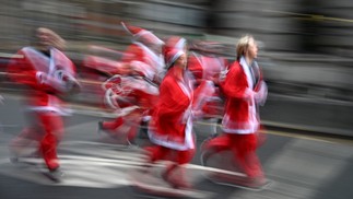
[[[226,97],[223,130],[228,133],[254,133],[259,129],[257,98],[267,96],[267,86],[260,77],[260,83],[250,87],[254,82],[246,70],[247,66],[235,61],[222,84]]]

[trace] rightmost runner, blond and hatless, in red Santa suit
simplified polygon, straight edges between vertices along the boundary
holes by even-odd
[[[259,145],[260,117],[258,106],[267,98],[267,85],[255,59],[258,47],[252,36],[238,40],[236,61],[222,84],[226,98],[223,134],[204,144],[203,150],[233,151],[238,166],[246,174],[242,183],[260,186],[266,183],[261,163],[256,154]]]

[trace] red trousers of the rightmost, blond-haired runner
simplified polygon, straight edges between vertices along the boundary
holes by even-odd
[[[203,150],[213,150],[216,153],[231,150],[236,163],[248,177],[263,177],[261,163],[256,154],[259,138],[258,133],[224,133],[208,141]]]

